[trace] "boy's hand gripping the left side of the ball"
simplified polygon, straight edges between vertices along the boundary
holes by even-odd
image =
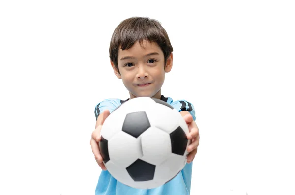
[[[110,115],[109,110],[104,110],[97,118],[95,130],[92,132],[92,136],[90,139],[90,145],[92,152],[94,154],[95,160],[98,163],[99,167],[101,167],[103,170],[107,170],[105,165],[103,164],[103,159],[99,151],[99,144],[98,142],[101,140],[100,130],[101,127],[106,120],[106,118]]]

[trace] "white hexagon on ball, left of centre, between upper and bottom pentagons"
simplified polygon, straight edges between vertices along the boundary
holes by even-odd
[[[120,131],[108,142],[111,161],[121,168],[126,168],[143,156],[140,139]]]

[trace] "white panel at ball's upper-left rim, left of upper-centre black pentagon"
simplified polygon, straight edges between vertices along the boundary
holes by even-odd
[[[104,121],[100,133],[105,139],[110,140],[122,130],[125,116],[119,109],[113,111]]]

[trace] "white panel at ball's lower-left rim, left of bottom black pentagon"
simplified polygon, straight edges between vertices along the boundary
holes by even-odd
[[[105,166],[107,170],[110,172],[110,174],[119,182],[125,185],[134,182],[133,179],[130,177],[129,173],[127,172],[126,168],[118,167],[111,160],[109,160],[105,164]]]

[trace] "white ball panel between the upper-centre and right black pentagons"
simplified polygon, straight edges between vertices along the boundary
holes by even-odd
[[[155,126],[168,134],[179,126],[178,115],[180,113],[165,105],[155,104],[153,107],[146,109],[146,114],[151,126]]]

